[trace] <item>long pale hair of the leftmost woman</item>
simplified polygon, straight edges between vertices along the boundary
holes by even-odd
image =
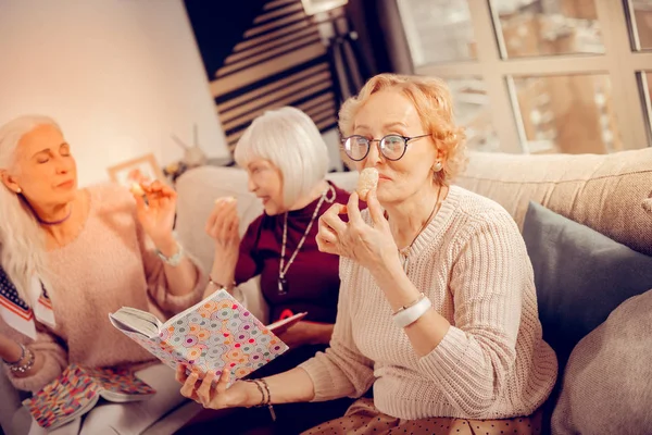
[[[0,171],[14,169],[21,138],[39,125],[59,125],[48,116],[25,115],[0,127]],[[16,286],[21,298],[32,303],[34,276],[47,286],[46,238],[27,203],[3,184],[0,185],[0,264]]]

